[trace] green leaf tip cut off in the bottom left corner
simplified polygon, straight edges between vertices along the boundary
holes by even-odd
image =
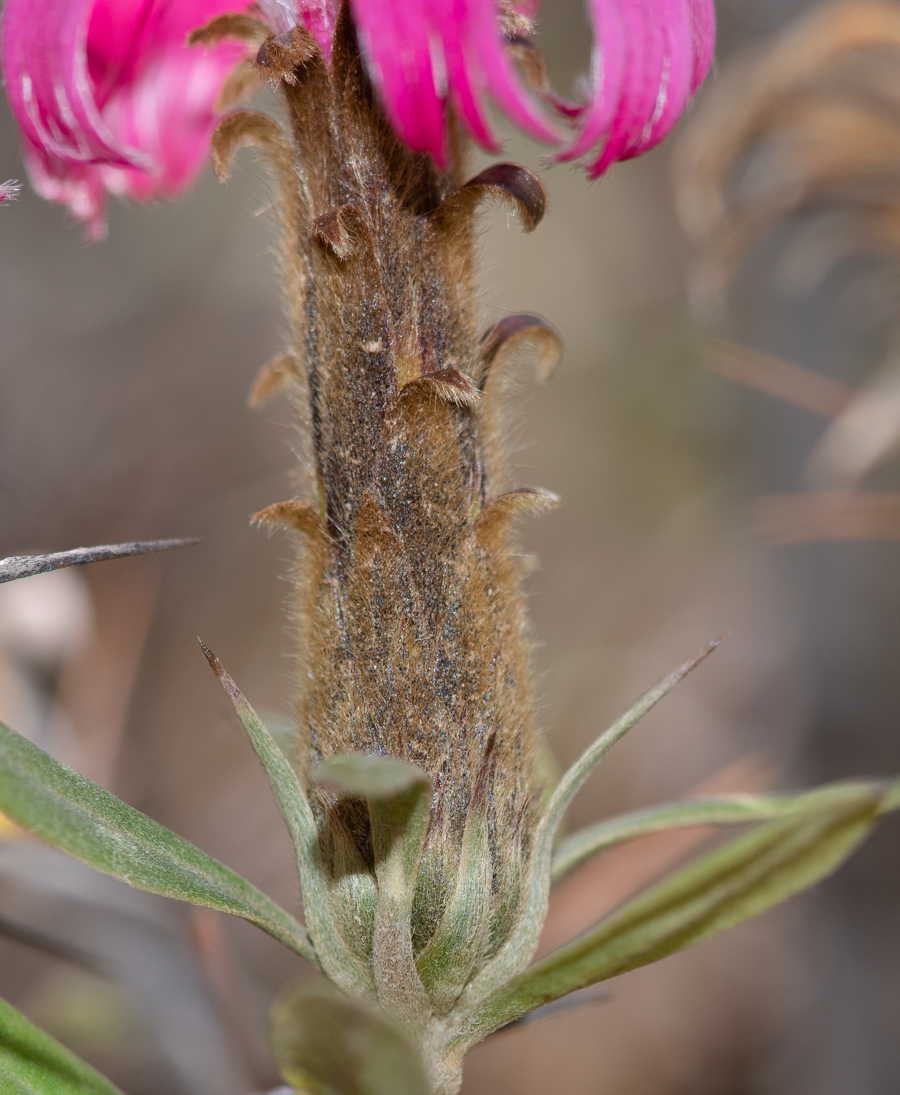
[[[90,1064],[0,1000],[3,1095],[122,1095]]]

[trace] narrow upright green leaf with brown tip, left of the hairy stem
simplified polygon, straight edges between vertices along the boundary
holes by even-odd
[[[353,954],[338,930],[328,876],[319,855],[319,829],[297,773],[216,655],[203,643],[200,647],[246,730],[293,841],[303,912],[314,946],[313,960],[347,992],[373,996],[371,971]]]

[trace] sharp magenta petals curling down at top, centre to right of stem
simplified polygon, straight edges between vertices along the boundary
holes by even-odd
[[[595,31],[592,85],[581,105],[551,100],[575,136],[558,159],[588,157],[592,177],[648,151],[674,126],[713,58],[713,0],[587,0]],[[262,0],[290,18],[291,0]],[[534,15],[539,0],[507,5]],[[564,141],[514,68],[498,0],[350,0],[362,50],[391,122],[416,151],[445,159],[446,107],[497,149],[486,117],[493,100],[540,140]],[[336,0],[293,9],[326,50]]]

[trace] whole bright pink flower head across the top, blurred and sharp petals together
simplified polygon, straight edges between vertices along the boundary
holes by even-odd
[[[250,0],[7,0],[2,66],[37,189],[103,231],[107,192],[173,197],[195,178],[216,103],[244,47],[189,48],[187,34]],[[705,77],[713,0],[587,0],[595,31],[590,93],[567,104],[529,89],[510,25],[539,0],[349,0],[391,122],[414,150],[447,157],[452,106],[486,149],[493,102],[592,177],[646,152]],[[338,0],[257,0],[276,33],[300,21],[326,58]]]

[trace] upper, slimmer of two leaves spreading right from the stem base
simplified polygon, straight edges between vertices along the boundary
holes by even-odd
[[[711,798],[689,798],[666,803],[646,810],[635,810],[588,826],[559,841],[553,851],[551,879],[557,881],[591,855],[603,852],[635,837],[646,837],[669,829],[693,829],[705,826],[747,825],[772,818],[791,817],[826,799],[835,788],[821,787],[798,795],[716,795]],[[888,785],[881,814],[900,808],[900,783]]]

